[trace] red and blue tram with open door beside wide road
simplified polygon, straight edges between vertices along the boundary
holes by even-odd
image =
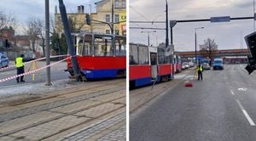
[[[172,78],[171,55],[165,48],[148,47],[143,44],[129,45],[130,87],[141,87]]]

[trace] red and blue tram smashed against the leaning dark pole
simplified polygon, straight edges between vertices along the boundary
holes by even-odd
[[[74,33],[73,38],[79,71],[84,81],[125,77],[125,36]],[[74,75],[71,59],[67,59],[67,71],[71,76]]]

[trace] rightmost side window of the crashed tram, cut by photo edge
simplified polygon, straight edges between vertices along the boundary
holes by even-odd
[[[117,56],[125,56],[126,55],[126,41],[125,37],[115,38],[115,54]]]

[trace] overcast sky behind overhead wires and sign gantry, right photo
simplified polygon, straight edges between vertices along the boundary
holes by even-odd
[[[253,16],[253,0],[168,0],[169,20],[210,19],[216,16]],[[165,0],[130,0],[130,20],[166,20]],[[133,24],[130,27],[160,27],[164,24]],[[218,49],[247,48],[243,37],[253,32],[253,20],[231,20],[230,22],[177,23],[173,28],[173,43],[177,51],[195,50],[195,28],[198,44],[208,37],[215,40]],[[170,29],[169,29],[170,30]],[[147,34],[130,30],[130,42],[148,44]],[[150,44],[156,46],[166,41],[166,31],[150,34]],[[169,31],[170,41],[170,31]]]

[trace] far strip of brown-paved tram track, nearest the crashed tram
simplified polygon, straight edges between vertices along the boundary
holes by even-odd
[[[38,111],[41,110],[47,110],[51,107],[56,108],[59,106],[63,106],[65,104],[72,104],[75,102],[79,102],[81,100],[84,99],[90,99],[96,96],[100,96],[100,95],[105,95],[108,93],[114,93],[116,91],[119,91],[121,89],[125,89],[125,87],[119,87],[119,85],[125,85],[125,82],[108,82],[105,84],[102,84],[100,86],[96,86],[96,87],[76,87],[74,88],[73,91],[71,92],[65,92],[65,93],[59,93],[56,96],[55,95],[51,95],[51,93],[49,94],[49,98],[45,98],[45,99],[36,99],[36,100],[32,100],[30,102],[24,102],[24,103],[19,103],[19,104],[15,104],[15,106],[11,105],[7,108],[12,108],[12,107],[18,107],[14,110],[11,111],[5,111],[2,112],[0,114],[0,123],[3,121],[9,121],[21,116],[26,116],[29,114],[33,114],[36,113]],[[59,97],[59,99],[56,99],[57,97]],[[52,100],[54,99],[54,100]],[[51,101],[50,101],[51,100]],[[40,103],[40,104],[38,104]],[[64,103],[64,104],[63,104]],[[26,105],[26,104],[35,104],[33,106],[30,105]],[[30,109],[33,109],[32,111],[29,111]],[[1,109],[0,109],[1,112]],[[13,114],[16,113],[16,114]],[[9,116],[12,115],[12,116]],[[16,115],[16,116],[14,116]],[[11,118],[10,118],[11,117]]]

